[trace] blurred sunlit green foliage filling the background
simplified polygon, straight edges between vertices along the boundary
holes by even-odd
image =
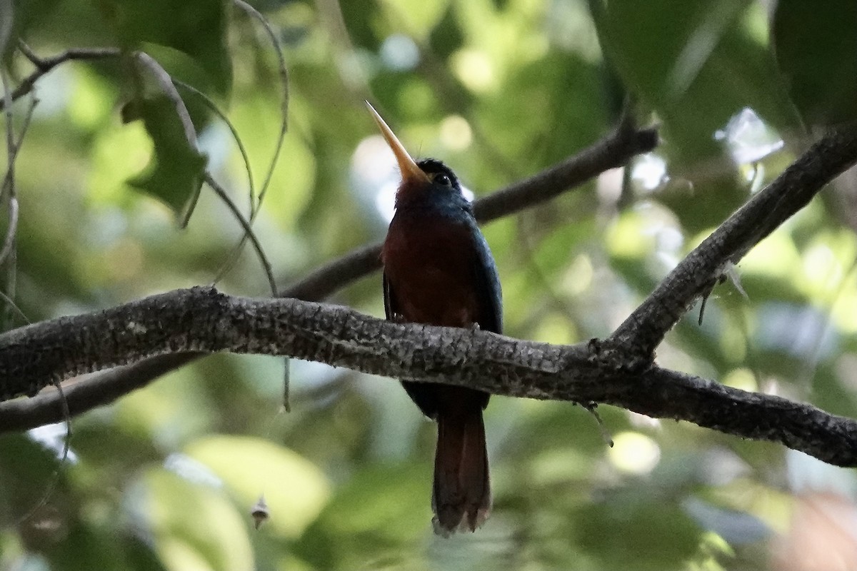
[[[395,172],[363,99],[476,195],[594,142],[631,99],[641,123],[661,128],[656,152],[485,228],[508,335],[608,334],[811,129],[854,118],[854,3],[781,0],[773,15],[769,4],[255,2],[290,74],[289,132],[254,225],[280,283],[384,235],[381,190]],[[237,5],[17,0],[0,2],[0,29],[11,30],[13,86],[33,69],[19,38],[40,57],[146,51],[223,110],[261,188],[282,92],[265,30]],[[207,188],[177,229],[203,168],[249,214],[248,173],[201,96],[179,90],[197,148],[165,86],[141,91],[135,73],[126,56],[65,63],[36,83],[16,164],[17,255],[0,279],[12,294],[15,277],[33,322],[210,283],[241,237]],[[28,104],[13,107],[16,132]],[[123,123],[123,108],[143,121]],[[857,416],[854,181],[842,177],[754,249],[701,325],[695,313],[678,324],[659,362]],[[160,200],[135,187],[158,188]],[[249,251],[219,286],[267,292]],[[332,301],[381,315],[381,279]],[[851,525],[837,522],[857,509],[847,470],[601,407],[609,449],[581,407],[500,397],[486,416],[494,514],[476,534],[435,538],[434,426],[398,385],[294,362],[285,414],[280,367],[214,355],[171,373],[74,419],[64,463],[63,426],[0,435],[0,568],[825,568],[801,567],[809,537],[816,563],[857,566],[836,543]],[[270,519],[255,531],[260,497]],[[837,517],[806,519],[830,505]]]

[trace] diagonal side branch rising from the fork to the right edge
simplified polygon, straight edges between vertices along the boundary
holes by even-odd
[[[855,163],[857,126],[830,131],[681,260],[611,340],[648,359],[698,297],[710,292],[728,265],[737,264]]]

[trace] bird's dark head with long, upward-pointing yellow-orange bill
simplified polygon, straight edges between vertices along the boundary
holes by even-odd
[[[396,192],[397,208],[407,203],[423,201],[444,202],[451,205],[458,205],[462,202],[464,205],[467,204],[464,195],[461,193],[461,184],[452,169],[434,158],[415,161],[405,151],[405,146],[393,134],[393,130],[387,126],[375,108],[368,101],[366,105],[378,124],[378,128],[381,129],[384,140],[387,140],[387,145],[393,151],[396,162],[399,163],[402,182]]]

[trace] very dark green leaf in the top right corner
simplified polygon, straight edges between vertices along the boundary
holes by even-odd
[[[776,62],[809,125],[857,119],[857,3],[780,0],[773,22]]]

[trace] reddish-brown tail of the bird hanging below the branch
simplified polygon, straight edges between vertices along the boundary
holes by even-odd
[[[488,518],[491,486],[481,408],[437,416],[432,509],[434,532],[443,536],[476,531]]]

